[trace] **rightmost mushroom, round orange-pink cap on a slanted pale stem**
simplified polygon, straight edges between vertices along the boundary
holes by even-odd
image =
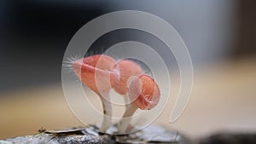
[[[131,116],[137,109],[150,110],[160,101],[160,89],[154,78],[146,74],[133,76],[128,80],[128,96],[132,101],[125,111],[123,118],[119,121],[118,130],[120,134],[125,133]]]

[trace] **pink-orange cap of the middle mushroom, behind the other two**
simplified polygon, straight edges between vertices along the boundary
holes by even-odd
[[[132,60],[119,60],[113,66],[113,74],[118,73],[116,77],[113,77],[113,89],[120,95],[125,95],[128,92],[127,81],[131,76],[137,76],[143,73],[141,66],[137,65]]]

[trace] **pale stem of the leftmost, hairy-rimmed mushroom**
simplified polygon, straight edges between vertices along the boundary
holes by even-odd
[[[109,101],[109,95],[100,96],[102,100],[103,107],[103,121],[102,126],[100,128],[100,132],[105,133],[108,128],[111,126],[111,118],[112,118],[112,106]]]

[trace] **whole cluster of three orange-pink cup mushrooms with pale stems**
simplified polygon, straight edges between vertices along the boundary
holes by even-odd
[[[100,132],[111,126],[112,107],[109,90],[125,95],[126,110],[119,121],[118,130],[122,134],[131,122],[136,110],[154,108],[160,100],[160,89],[154,78],[143,73],[141,66],[132,60],[116,61],[108,55],[92,55],[73,61],[73,71],[87,87],[102,100],[104,118]],[[129,102],[128,102],[129,101]]]

